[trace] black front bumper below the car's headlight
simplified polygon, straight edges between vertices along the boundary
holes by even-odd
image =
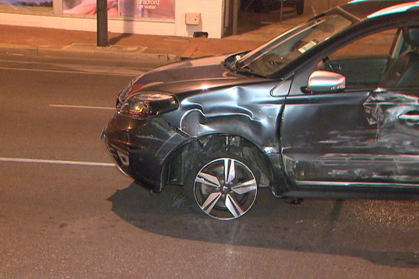
[[[121,171],[155,192],[162,188],[164,161],[188,140],[161,117],[137,120],[120,114],[114,115],[102,137]]]

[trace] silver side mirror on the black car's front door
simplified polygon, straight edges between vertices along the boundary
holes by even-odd
[[[345,86],[345,76],[335,72],[317,70],[310,75],[307,90],[314,93],[327,93],[343,90]]]

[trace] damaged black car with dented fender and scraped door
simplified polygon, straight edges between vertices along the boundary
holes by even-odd
[[[128,84],[102,137],[119,168],[230,220],[276,197],[418,199],[419,1],[352,1],[257,49]]]

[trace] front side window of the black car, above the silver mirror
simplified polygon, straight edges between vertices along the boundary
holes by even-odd
[[[363,37],[323,58],[317,69],[344,75],[348,89],[377,87],[398,36],[398,30],[391,29]]]

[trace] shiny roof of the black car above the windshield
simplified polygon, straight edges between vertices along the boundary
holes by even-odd
[[[367,17],[399,13],[415,7],[419,7],[419,1],[355,0],[339,8],[357,17],[359,20],[363,20]]]

